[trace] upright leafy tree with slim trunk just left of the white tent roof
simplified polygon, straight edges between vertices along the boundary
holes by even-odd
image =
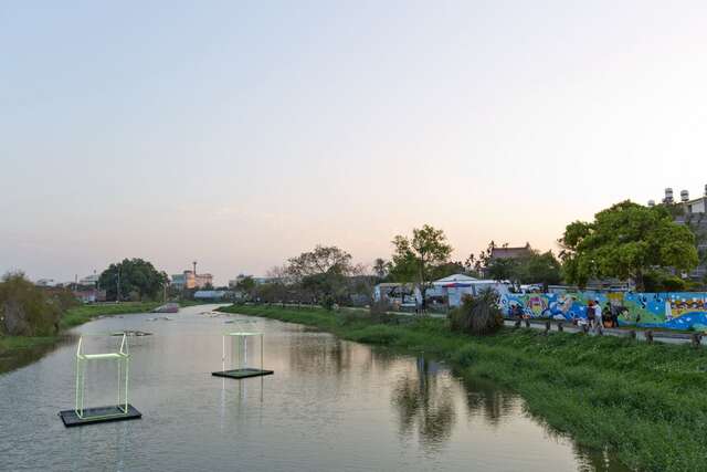
[[[408,276],[420,287],[422,308],[425,307],[425,293],[430,285],[432,270],[445,264],[452,254],[444,231],[424,224],[412,230],[412,238],[397,235],[393,241],[395,252],[392,256],[391,273],[397,277]]]

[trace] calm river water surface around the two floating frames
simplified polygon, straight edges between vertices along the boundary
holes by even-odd
[[[130,339],[130,402],[141,420],[64,428],[56,413],[73,407],[75,342],[0,375],[0,470],[624,470],[549,432],[517,396],[463,382],[433,360],[205,310],[75,329],[154,333]],[[212,377],[224,331],[265,333],[275,375]],[[116,339],[92,343],[106,350]],[[115,402],[116,371],[101,367],[88,370],[87,406]]]

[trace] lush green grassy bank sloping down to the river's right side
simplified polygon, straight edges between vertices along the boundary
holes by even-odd
[[[611,448],[629,466],[707,470],[707,352],[616,337],[503,329],[453,334],[444,319],[374,323],[359,313],[234,306],[232,313],[316,326],[340,337],[424,352],[466,378],[520,394],[529,411],[583,445]]]

